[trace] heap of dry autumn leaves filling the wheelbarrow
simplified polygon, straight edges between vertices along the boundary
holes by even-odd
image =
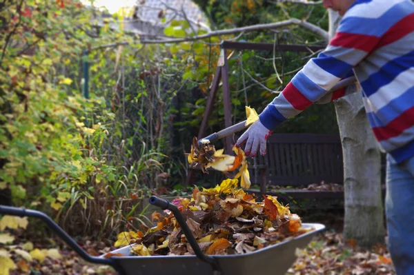
[[[237,179],[226,179],[214,188],[195,188],[191,199],[172,201],[184,216],[201,250],[210,255],[244,254],[304,234],[301,219],[291,214],[276,197],[257,202],[237,187]],[[144,232],[121,232],[115,247],[130,243],[141,256],[194,254],[172,213],[155,212],[157,226]]]

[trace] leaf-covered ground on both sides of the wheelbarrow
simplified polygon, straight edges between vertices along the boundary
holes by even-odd
[[[43,238],[43,247],[54,247],[60,256],[45,256],[41,258],[28,257],[26,253],[16,252],[25,250],[25,243],[17,240],[13,245],[0,245],[0,261],[3,265],[5,251],[14,262],[12,275],[22,274],[115,274],[112,268],[90,265],[68,247],[58,247],[57,238]],[[115,247],[106,243],[79,239],[83,248],[92,255],[104,254]],[[30,248],[30,247],[29,247]],[[40,250],[46,248],[40,248]],[[50,249],[50,248],[48,248]],[[26,250],[30,254],[30,250]],[[372,249],[363,249],[354,242],[344,241],[342,234],[326,231],[319,234],[306,249],[297,251],[297,261],[286,275],[308,274],[395,274],[388,251],[383,245],[375,245]],[[0,269],[0,274],[8,274]]]

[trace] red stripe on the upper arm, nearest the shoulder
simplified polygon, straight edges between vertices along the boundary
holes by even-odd
[[[373,35],[337,32],[329,44],[336,47],[353,48],[371,52],[378,41],[380,41],[380,38],[374,37]]]

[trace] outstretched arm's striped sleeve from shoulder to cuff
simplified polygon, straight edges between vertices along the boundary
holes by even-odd
[[[375,49],[381,37],[376,33],[377,26],[366,26],[366,22],[360,20],[359,17],[345,17],[326,50],[308,61],[282,94],[259,115],[266,128],[273,130],[289,117],[296,116],[324,98],[340,79],[351,74],[353,67]],[[368,22],[375,23],[374,20]],[[346,94],[345,90],[339,90],[331,99]]]

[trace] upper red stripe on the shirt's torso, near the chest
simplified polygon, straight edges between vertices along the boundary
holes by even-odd
[[[407,15],[389,28],[386,33],[382,35],[382,39],[380,39],[380,42],[375,48],[391,44],[411,32],[414,32],[414,13]]]

